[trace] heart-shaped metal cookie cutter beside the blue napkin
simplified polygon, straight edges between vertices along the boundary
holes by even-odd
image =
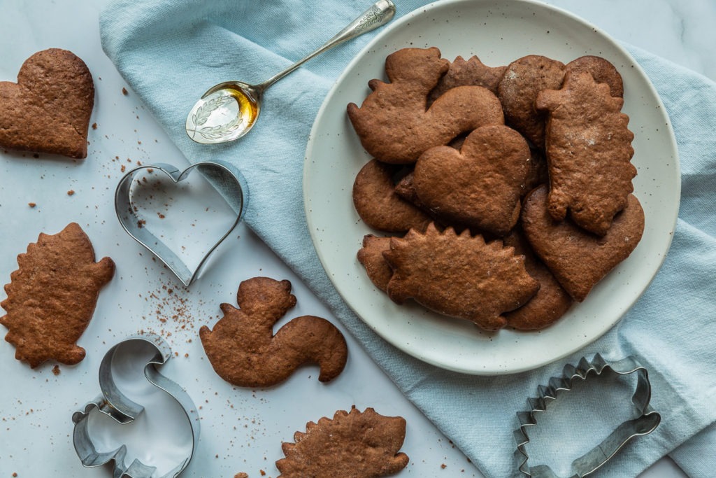
[[[236,212],[236,221],[229,227],[226,234],[223,234],[221,239],[218,239],[216,244],[204,254],[198,266],[194,270],[191,270],[178,254],[161,239],[152,234],[147,227],[142,226],[140,216],[137,216],[137,212],[132,206],[130,187],[132,186],[134,178],[142,170],[161,171],[169,176],[174,183],[179,183],[180,181],[184,181],[195,169],[202,173],[208,181],[218,186],[218,191],[221,193],[223,199],[231,206],[231,209]],[[129,171],[120,179],[120,183],[117,185],[117,190],[115,191],[115,211],[117,212],[117,219],[119,219],[120,224],[122,224],[122,227],[127,231],[127,234],[158,257],[175,276],[178,277],[183,285],[187,287],[198,277],[199,272],[209,256],[211,256],[211,253],[214,252],[214,249],[231,234],[231,231],[233,231],[239,221],[241,221],[247,202],[248,186],[246,186],[246,180],[241,173],[230,164],[219,163],[217,161],[194,163],[184,171],[180,171],[175,166],[167,163],[139,166]]]

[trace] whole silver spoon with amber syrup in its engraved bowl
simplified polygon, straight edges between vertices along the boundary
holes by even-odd
[[[258,113],[261,112],[261,96],[266,88],[316,55],[381,27],[394,15],[395,5],[392,1],[379,0],[322,47],[269,80],[258,85],[231,81],[211,87],[191,108],[186,118],[186,133],[192,140],[203,144],[225,143],[241,138],[256,123]]]

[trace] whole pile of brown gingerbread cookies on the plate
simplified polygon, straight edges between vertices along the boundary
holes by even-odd
[[[393,301],[485,330],[541,329],[637,247],[634,134],[609,61],[488,67],[405,48],[385,73],[347,111],[373,158],[354,206],[380,233],[358,260]]]

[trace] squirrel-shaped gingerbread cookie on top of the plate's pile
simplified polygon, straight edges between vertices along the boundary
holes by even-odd
[[[440,50],[405,48],[385,60],[390,82],[371,80],[361,107],[350,103],[348,117],[367,152],[384,163],[414,163],[433,146],[482,125],[503,124],[500,101],[479,86],[455,87],[427,107],[427,97],[448,71]]]

